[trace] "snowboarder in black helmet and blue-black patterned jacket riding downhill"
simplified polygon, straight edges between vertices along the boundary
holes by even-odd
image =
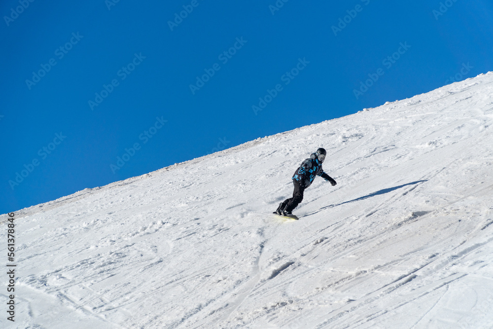
[[[292,180],[294,183],[293,197],[284,200],[284,202],[279,204],[279,208],[274,212],[274,214],[281,216],[290,216],[292,211],[298,204],[303,200],[303,192],[305,188],[310,186],[310,184],[315,179],[315,176],[320,176],[325,181],[329,181],[332,186],[334,186],[336,181],[334,181],[329,175],[325,174],[322,170],[322,162],[325,159],[327,152],[324,148],[318,148],[315,153],[312,153],[308,159],[303,161],[301,166],[296,169]]]

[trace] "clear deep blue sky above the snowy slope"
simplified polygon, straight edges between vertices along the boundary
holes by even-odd
[[[0,213],[493,70],[491,1],[319,2],[1,1]]]

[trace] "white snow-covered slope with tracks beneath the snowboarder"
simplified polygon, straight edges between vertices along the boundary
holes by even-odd
[[[493,328],[492,163],[487,73],[23,209],[0,326]]]

